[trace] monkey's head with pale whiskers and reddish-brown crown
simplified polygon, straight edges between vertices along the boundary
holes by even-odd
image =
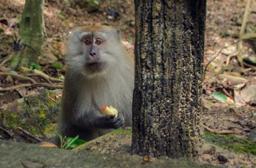
[[[67,43],[67,62],[87,77],[104,75],[124,57],[119,31],[110,26],[76,28]]]

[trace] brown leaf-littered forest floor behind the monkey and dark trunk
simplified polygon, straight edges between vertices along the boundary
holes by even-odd
[[[51,53],[41,56],[41,71],[58,78],[65,74],[65,41],[69,32],[77,26],[101,23],[117,26],[122,32],[122,41],[128,53],[133,55],[135,41],[135,9],[133,0],[98,0],[100,8],[88,13],[77,5],[70,5],[63,0],[48,0],[44,6],[46,27],[43,51]],[[19,21],[25,0],[1,0],[0,2],[0,59],[3,61],[13,50],[15,35],[19,30]],[[75,4],[75,3],[73,3]],[[256,45],[255,40],[244,40],[238,56],[247,57],[243,64],[239,57],[228,55],[236,52],[239,43],[246,1],[243,0],[208,0],[205,31],[206,67],[203,87],[203,114],[205,131],[219,134],[234,134],[246,138],[256,127]],[[109,10],[111,9],[111,10]],[[252,1],[247,18],[247,33],[256,32],[256,1]],[[49,58],[52,58],[49,61]],[[61,63],[61,68],[54,63]],[[0,66],[1,72],[9,72],[9,62]],[[18,72],[21,73],[21,72]],[[224,76],[228,75],[228,76]],[[36,81],[47,82],[38,76]],[[9,80],[0,74],[0,87],[26,83],[22,80]],[[239,85],[237,85],[239,84]],[[236,87],[235,87],[236,86]],[[246,87],[247,86],[247,87]],[[29,94],[37,87],[26,87],[23,91],[5,91],[0,93],[0,105],[10,103]],[[219,101],[221,96],[227,101]],[[255,99],[254,99],[255,98]],[[236,158],[234,158],[236,160]],[[246,161],[244,161],[246,162]],[[250,162],[250,161],[248,161]],[[254,163],[255,167],[255,163]]]

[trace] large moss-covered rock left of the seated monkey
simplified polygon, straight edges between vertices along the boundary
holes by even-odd
[[[60,89],[33,91],[25,97],[0,107],[0,126],[15,136],[17,141],[27,141],[19,136],[18,127],[40,138],[52,137],[56,131],[60,111]],[[5,139],[6,134],[0,132]]]

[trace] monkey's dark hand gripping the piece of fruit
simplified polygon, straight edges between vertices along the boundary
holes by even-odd
[[[110,116],[104,118],[105,123],[108,125],[108,127],[113,129],[118,129],[122,127],[125,122],[124,117],[121,113],[119,113],[118,116],[116,116],[115,114],[111,114]]]

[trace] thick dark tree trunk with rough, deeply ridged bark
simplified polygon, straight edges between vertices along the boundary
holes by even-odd
[[[197,157],[206,0],[134,0],[135,88],[131,153]]]

